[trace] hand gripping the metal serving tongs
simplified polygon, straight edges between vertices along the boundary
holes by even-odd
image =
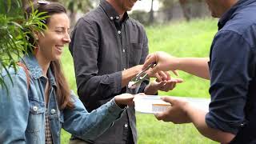
[[[178,65],[178,58],[175,58],[165,52],[158,51],[154,54],[149,54],[146,57],[146,61],[144,62],[142,69],[145,69],[146,66],[149,66],[150,63],[153,63],[153,62],[156,62],[157,65],[147,71],[149,75],[155,74],[160,70],[162,71],[172,70],[174,74],[178,75],[178,73],[175,71],[177,70],[176,66]]]

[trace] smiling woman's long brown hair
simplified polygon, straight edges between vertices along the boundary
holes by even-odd
[[[50,16],[53,14],[66,14],[66,9],[64,6],[62,6],[58,2],[46,2],[46,3],[40,3],[40,2],[34,2],[34,4],[31,6],[28,6],[26,8],[26,18],[30,17],[30,14],[32,13],[32,7],[34,7],[34,10],[38,10],[38,12],[46,12],[46,14],[42,14],[41,17],[44,16]],[[47,25],[50,21],[50,18],[46,18],[44,23]],[[30,37],[30,43],[34,44],[34,38]],[[62,70],[62,64],[60,60],[52,61],[50,62],[50,69],[54,72],[54,78],[57,85],[56,90],[56,96],[58,99],[58,105],[61,110],[68,108],[72,109],[74,108],[74,103],[72,102],[72,99],[70,97],[70,87],[66,81],[66,78],[64,77],[63,70]]]

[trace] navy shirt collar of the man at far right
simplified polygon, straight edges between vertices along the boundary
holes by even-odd
[[[226,13],[222,15],[222,18],[219,19],[218,30],[221,30],[222,27],[225,26],[226,22],[228,22],[231,18],[234,17],[234,14],[237,10],[253,2],[256,2],[256,1],[255,0],[239,0],[234,6],[230,8],[230,10],[227,10]]]

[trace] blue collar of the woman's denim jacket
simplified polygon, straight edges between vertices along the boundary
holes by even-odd
[[[24,57],[21,59],[21,62],[26,64],[27,69],[30,71],[30,75],[33,78],[41,78],[43,77],[42,68],[38,64],[38,60],[34,57],[34,54],[25,54]],[[51,86],[56,86],[54,74],[52,70],[47,70],[47,76]]]

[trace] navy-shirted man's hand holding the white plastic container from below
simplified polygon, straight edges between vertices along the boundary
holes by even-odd
[[[174,122],[175,124],[191,122],[186,114],[186,106],[189,105],[188,102],[174,97],[164,97],[162,100],[170,102],[171,106],[166,111],[154,115],[158,120]]]

